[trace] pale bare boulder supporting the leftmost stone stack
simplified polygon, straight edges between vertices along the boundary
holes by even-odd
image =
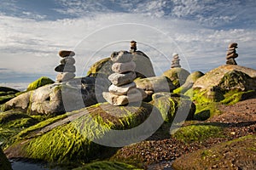
[[[95,79],[73,79],[68,84],[49,84],[20,94],[3,105],[3,111],[25,111],[29,114],[59,115],[96,104]]]

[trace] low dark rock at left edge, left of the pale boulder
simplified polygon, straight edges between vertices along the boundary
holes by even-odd
[[[0,105],[4,104],[5,102],[9,101],[10,99],[15,98],[15,94],[19,93],[20,91],[15,90],[13,88],[7,87],[0,87]]]

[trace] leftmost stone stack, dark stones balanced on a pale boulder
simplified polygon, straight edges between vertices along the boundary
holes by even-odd
[[[67,82],[72,80],[76,75],[75,59],[73,56],[75,53],[73,51],[61,50],[59,52],[61,59],[61,64],[55,67],[55,71],[59,72],[56,77],[56,82]]]

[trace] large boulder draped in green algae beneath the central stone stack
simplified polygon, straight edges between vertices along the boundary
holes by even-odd
[[[154,117],[149,118],[152,114]],[[160,124],[160,119],[159,111],[147,103],[119,107],[93,105],[21,131],[6,153],[9,158],[83,163],[110,153],[111,147],[147,138],[154,133],[152,125]]]

